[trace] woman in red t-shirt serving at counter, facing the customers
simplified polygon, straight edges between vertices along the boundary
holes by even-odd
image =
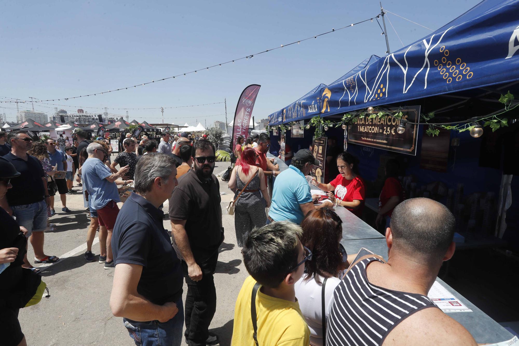
[[[323,191],[333,191],[334,193],[327,193],[333,204],[343,206],[360,217],[366,189],[364,180],[359,177],[359,159],[350,153],[342,152],[337,155],[337,169],[339,175],[330,183],[317,183],[317,180],[313,179],[312,184]]]

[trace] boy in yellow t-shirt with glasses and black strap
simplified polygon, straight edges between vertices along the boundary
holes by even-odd
[[[294,284],[303,275],[310,250],[299,237],[303,230],[288,222],[272,222],[254,229],[242,250],[251,276],[241,287],[234,313],[233,346],[255,346],[251,314],[252,291],[261,284],[255,299],[257,343],[260,346],[308,346],[310,330],[295,297]]]

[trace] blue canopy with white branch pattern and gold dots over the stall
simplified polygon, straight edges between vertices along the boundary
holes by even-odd
[[[519,91],[518,15],[517,1],[485,0],[411,45],[383,58],[367,58],[314,93],[320,99],[321,116],[395,107],[417,99],[420,102],[411,103],[421,103],[427,112],[463,103],[482,110],[478,100],[486,105],[494,101],[495,106],[500,93]],[[430,107],[424,107],[427,103]],[[269,116],[269,125],[293,120],[279,119],[278,114],[272,122]]]

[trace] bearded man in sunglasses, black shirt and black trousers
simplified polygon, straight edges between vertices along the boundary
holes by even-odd
[[[190,169],[173,190],[169,217],[173,247],[182,260],[187,284],[184,335],[189,345],[214,345],[218,338],[209,335],[216,311],[213,274],[224,239],[220,185],[213,175],[213,144],[201,139],[193,149],[195,169]]]

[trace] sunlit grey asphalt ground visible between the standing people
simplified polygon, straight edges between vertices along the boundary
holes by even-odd
[[[227,166],[217,162],[214,174],[224,171]],[[236,298],[248,274],[240,248],[236,246],[234,216],[227,215],[225,209],[233,193],[227,188],[227,182],[218,179],[220,191],[225,193],[222,195],[225,240],[214,274],[217,302],[210,331],[218,335],[221,345],[229,345]],[[75,181],[74,185],[75,193],[67,195],[67,207],[72,212],[61,212],[57,196],[54,205],[57,214],[50,222],[56,223],[58,230],[45,232],[45,254],[58,256],[61,260],[52,265],[34,264],[29,245],[28,258],[35,267],[41,267],[50,298],[20,310],[22,331],[29,345],[132,345],[133,340],[122,324],[122,318],[114,317],[108,305],[114,270],[104,270],[103,264],[98,263],[97,237],[92,246],[95,261],[85,261],[86,231],[90,221],[84,212],[82,188],[76,186]],[[168,210],[168,201],[164,210]],[[169,219],[164,221],[164,227],[171,230]],[[184,283],[183,301],[186,291]]]

